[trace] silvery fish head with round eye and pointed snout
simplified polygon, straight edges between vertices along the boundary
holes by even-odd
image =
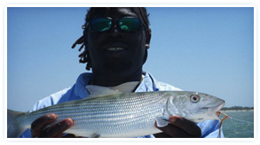
[[[178,92],[170,95],[167,101],[169,115],[177,115],[193,122],[219,119],[217,111],[225,105],[225,101],[212,95],[196,92]]]

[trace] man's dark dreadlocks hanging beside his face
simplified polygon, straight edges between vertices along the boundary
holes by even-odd
[[[100,9],[104,10],[104,8],[91,7],[91,9],[86,14],[85,24],[83,25],[83,29],[86,28],[87,23],[90,21],[91,17],[94,15],[95,11],[100,11]],[[140,11],[142,19],[144,20],[144,23],[147,27],[146,31],[149,31],[149,25],[150,25],[149,19],[148,19],[149,14],[147,14],[146,8],[138,7],[138,10]],[[106,7],[105,8],[106,15],[108,15],[109,11],[110,11],[110,8]],[[86,48],[87,44],[84,41],[84,35],[75,41],[75,43],[72,45],[72,49],[74,49],[77,44],[81,44],[79,51],[83,50],[83,48],[84,48],[83,52],[78,56],[78,57],[80,57],[79,62],[83,63],[83,64],[87,63],[86,70],[90,71],[91,67],[92,67],[91,66],[91,57],[89,55],[89,50]]]

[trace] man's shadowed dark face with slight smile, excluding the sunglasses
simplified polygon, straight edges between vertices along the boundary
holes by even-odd
[[[97,11],[94,17],[107,17],[107,14],[104,11]],[[135,17],[143,21],[138,8],[110,8],[108,17],[112,19]],[[108,31],[97,33],[87,27],[86,40],[92,71],[106,75],[109,73],[125,75],[142,68],[147,43],[145,29],[144,25],[141,25],[137,32],[123,32],[114,26]]]

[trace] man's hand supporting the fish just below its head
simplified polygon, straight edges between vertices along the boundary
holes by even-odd
[[[171,116],[169,117],[169,125],[158,127],[155,122],[155,127],[162,130],[163,133],[154,134],[158,138],[200,138],[201,128],[190,120],[185,118]]]

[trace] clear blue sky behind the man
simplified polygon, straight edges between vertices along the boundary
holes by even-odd
[[[86,7],[7,8],[7,108],[30,111],[87,72],[72,44]],[[185,91],[254,106],[254,7],[147,7],[144,71]]]

